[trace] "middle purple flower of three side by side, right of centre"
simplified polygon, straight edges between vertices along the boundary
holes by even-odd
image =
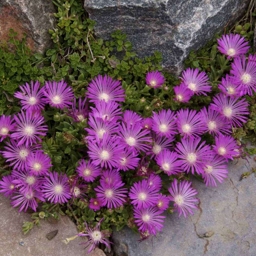
[[[196,110],[180,109],[177,112],[178,120],[178,131],[183,138],[194,138],[199,137],[201,134],[205,133],[206,127],[204,127],[204,122],[202,120],[202,115]]]

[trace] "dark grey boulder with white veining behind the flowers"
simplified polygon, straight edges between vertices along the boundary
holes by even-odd
[[[163,66],[179,74],[191,49],[211,40],[246,10],[249,0],[85,0],[98,37],[121,29],[140,57],[163,53]]]

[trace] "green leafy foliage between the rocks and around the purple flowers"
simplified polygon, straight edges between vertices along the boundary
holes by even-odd
[[[103,41],[101,38],[95,38],[93,26],[95,22],[87,17],[86,12],[79,0],[70,1],[52,1],[57,8],[54,14],[58,20],[57,27],[50,29],[54,46],[48,49],[45,55],[31,52],[26,46],[26,36],[19,41],[16,39],[17,33],[10,29],[9,42],[3,43],[0,48],[0,114],[1,115],[17,115],[21,112],[20,100],[15,97],[14,93],[20,91],[19,85],[34,83],[38,80],[43,86],[47,81],[67,82],[74,92],[77,107],[79,97],[84,100],[87,87],[92,79],[98,74],[113,77],[120,81],[122,89],[125,91],[124,101],[121,102],[122,111],[131,110],[136,112],[143,118],[151,117],[153,112],[168,110],[179,111],[181,109],[190,109],[200,111],[204,106],[208,109],[209,104],[213,103],[213,97],[219,93],[219,84],[226,74],[229,74],[231,62],[227,55],[222,54],[217,49],[217,39],[221,38],[221,34],[217,34],[215,38],[209,42],[204,48],[198,51],[192,51],[185,61],[185,69],[198,68],[204,71],[209,77],[208,82],[211,91],[204,94],[194,94],[188,102],[180,102],[176,99],[173,87],[181,83],[181,79],[166,73],[161,67],[162,54],[155,52],[153,56],[147,56],[143,59],[137,58],[136,53],[132,51],[131,42],[126,40],[126,35],[122,31],[115,31],[111,34],[112,41]],[[255,13],[250,12],[255,6],[252,1],[248,13],[233,28],[227,28],[227,33],[236,33],[245,38],[251,47],[246,54],[253,55],[253,31]],[[252,13],[250,16],[250,13]],[[225,28],[226,30],[226,28]],[[226,32],[226,31],[225,31]],[[115,55],[122,58],[117,58]],[[158,70],[164,75],[164,86],[152,88],[146,83],[145,77],[148,72]],[[232,127],[232,136],[236,139],[240,146],[246,141],[256,141],[256,102],[255,93],[244,96],[249,102],[249,119],[242,123],[241,127]],[[244,98],[242,97],[242,98]],[[90,107],[94,107],[93,102],[88,102],[88,111]],[[56,221],[59,215],[67,214],[77,224],[80,232],[86,231],[86,224],[92,227],[100,221],[102,237],[108,236],[112,232],[112,225],[117,230],[122,229],[125,225],[139,233],[138,226],[134,223],[133,205],[131,200],[127,200],[120,207],[101,207],[93,209],[89,207],[90,198],[96,198],[95,188],[100,186],[99,178],[92,182],[84,182],[83,178],[78,176],[77,168],[81,163],[81,159],[88,160],[88,132],[85,128],[88,125],[88,115],[81,120],[75,120],[74,115],[70,114],[71,106],[56,108],[54,105],[46,104],[41,114],[44,117],[44,125],[48,126],[47,134],[40,135],[42,142],[42,150],[50,157],[50,172],[57,172],[59,175],[66,174],[69,178],[68,182],[71,189],[71,198],[68,203],[57,203],[37,200],[38,207],[36,212],[32,211],[31,222],[25,222],[23,231],[29,232],[34,224],[40,226],[42,219],[48,221]],[[88,113],[87,113],[88,114]],[[212,134],[203,133],[200,135],[201,142],[215,145],[215,139]],[[175,141],[172,143],[180,143],[182,136],[175,135]],[[10,142],[7,137],[1,141],[1,151],[5,151],[6,142]],[[200,142],[200,143],[201,143]],[[40,143],[40,142],[39,142]],[[152,143],[146,142],[148,147],[153,146]],[[255,150],[245,149],[249,154],[255,154]],[[245,153],[240,153],[237,157],[244,157]],[[6,162],[6,158],[1,154],[1,177],[7,177],[12,173],[13,166],[10,162]],[[160,175],[162,178],[162,195],[170,195],[168,188],[170,183],[189,180],[191,172],[179,172],[167,175],[163,169],[159,167],[151,155],[140,152],[140,163],[134,169],[128,171],[120,171],[124,187],[127,191],[134,183],[148,179],[148,173]],[[242,177],[246,177],[250,173],[244,173]],[[194,175],[202,179],[202,175],[194,172]],[[159,177],[160,177],[159,176]],[[78,186],[81,195],[74,193],[74,187]],[[86,185],[83,186],[82,184]],[[72,187],[73,186],[73,187]],[[84,195],[82,195],[83,193]],[[28,192],[29,193],[29,192]],[[167,212],[171,214],[175,210],[172,202],[168,201],[166,207]],[[139,211],[140,209],[138,209]],[[29,211],[29,209],[28,209]],[[99,225],[97,226],[99,228]],[[161,228],[161,227],[159,227]],[[89,228],[87,229],[89,230]],[[92,231],[93,232],[93,231]],[[150,232],[149,232],[150,233]],[[152,232],[151,232],[152,233]],[[154,232],[153,232],[154,234]],[[148,238],[148,232],[141,232],[142,239]],[[101,241],[104,243],[104,241]],[[95,244],[97,245],[97,244]],[[108,245],[108,243],[106,243]]]

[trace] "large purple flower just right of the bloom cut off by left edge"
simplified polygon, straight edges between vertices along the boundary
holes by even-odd
[[[14,115],[14,120],[17,122],[17,128],[15,132],[10,135],[11,138],[18,140],[18,146],[23,143],[26,147],[30,144],[36,143],[36,140],[42,141],[39,135],[46,135],[48,131],[47,125],[42,125],[45,120],[42,116],[32,116],[32,113],[29,111],[24,114],[21,111],[21,114],[18,113],[18,116]]]

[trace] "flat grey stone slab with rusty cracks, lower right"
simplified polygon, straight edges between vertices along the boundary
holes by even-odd
[[[125,228],[114,232],[118,256],[255,256],[256,255],[256,177],[239,181],[243,172],[256,168],[254,157],[230,164],[230,173],[217,188],[193,179],[198,190],[199,210],[178,218],[177,212],[165,219],[163,232],[138,243],[139,235]],[[206,236],[206,237],[205,237]]]

